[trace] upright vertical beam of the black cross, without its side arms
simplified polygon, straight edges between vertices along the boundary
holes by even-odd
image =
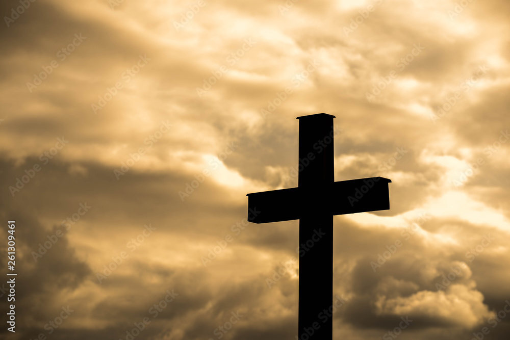
[[[322,324],[318,315],[328,309],[333,294],[333,214],[331,188],[334,176],[333,118],[321,114],[298,117],[300,169],[299,219],[299,339],[312,328],[315,339],[331,339],[333,322]],[[303,162],[308,160],[308,162]],[[317,232],[324,237],[317,240]],[[307,246],[313,244],[312,247]],[[306,275],[306,277],[303,277]],[[320,324],[313,328],[313,322]],[[307,334],[308,335],[308,334]]]

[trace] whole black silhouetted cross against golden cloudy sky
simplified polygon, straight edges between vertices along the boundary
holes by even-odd
[[[312,332],[317,340],[333,337],[333,216],[390,208],[388,178],[335,182],[333,118],[325,113],[297,117],[297,188],[246,195],[248,212],[256,212],[248,213],[250,222],[299,220],[299,340]],[[325,320],[324,312],[331,317]]]

